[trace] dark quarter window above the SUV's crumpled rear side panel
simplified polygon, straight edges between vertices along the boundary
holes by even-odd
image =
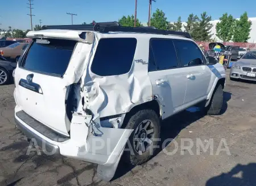
[[[99,76],[122,75],[130,71],[137,46],[135,38],[106,38],[98,43],[91,71]]]

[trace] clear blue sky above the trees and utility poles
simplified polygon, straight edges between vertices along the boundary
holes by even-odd
[[[30,10],[26,3],[28,0],[1,1],[0,28],[2,30],[8,30],[9,26],[12,29],[21,30],[31,28],[30,16],[27,15]],[[42,19],[42,26],[71,24],[71,15],[67,13],[77,14],[73,16],[73,24],[91,23],[92,20],[96,22],[118,21],[123,15],[134,14],[135,7],[135,0],[34,0],[32,3],[34,3],[32,14],[35,14],[32,17],[33,26],[40,24],[39,19]],[[238,0],[156,0],[152,2],[152,13],[156,9],[163,10],[170,22],[176,21],[178,16],[185,21],[189,14],[200,15],[203,11],[211,15],[212,20],[219,19],[224,13],[239,18],[245,11],[249,17],[256,17],[255,0],[243,0],[242,3]],[[138,0],[137,18],[141,22],[147,22],[148,0]]]

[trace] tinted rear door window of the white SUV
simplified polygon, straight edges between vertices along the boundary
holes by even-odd
[[[148,71],[156,68],[157,71],[178,67],[176,51],[172,40],[152,39]],[[152,59],[154,56],[154,59]],[[155,65],[155,67],[154,67]]]

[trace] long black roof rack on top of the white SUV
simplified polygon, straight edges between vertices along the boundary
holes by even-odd
[[[101,33],[133,32],[133,33],[144,33],[144,34],[177,35],[177,36],[191,39],[191,35],[188,32],[159,30],[159,29],[156,29],[155,27],[123,27],[118,22],[43,26],[42,29],[43,30],[47,30],[47,29],[88,30],[88,31],[98,31]]]

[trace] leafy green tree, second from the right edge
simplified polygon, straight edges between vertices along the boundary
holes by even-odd
[[[216,36],[223,42],[232,40],[234,23],[235,19],[232,15],[228,15],[228,13],[223,14],[220,18],[220,22],[216,24]]]

